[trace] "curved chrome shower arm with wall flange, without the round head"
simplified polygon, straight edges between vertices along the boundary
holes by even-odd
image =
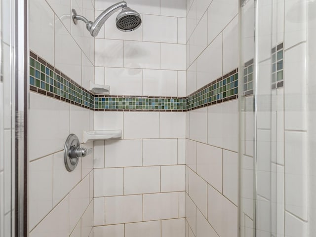
[[[96,37],[103,26],[103,24],[106,22],[106,20],[109,19],[110,16],[112,16],[115,13],[115,10],[119,7],[126,7],[127,3],[125,1],[120,1],[116,4],[113,4],[112,6],[105,9],[98,17],[95,19],[94,22],[89,21],[84,16],[77,15],[76,11],[73,9],[72,15],[75,24],[77,24],[77,20],[83,21],[86,24],[87,30],[90,32],[91,36]]]

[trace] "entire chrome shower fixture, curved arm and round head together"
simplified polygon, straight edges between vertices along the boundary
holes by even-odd
[[[109,19],[119,7],[122,7],[122,11],[118,13],[116,19],[118,30],[124,32],[136,30],[141,25],[142,19],[140,14],[129,8],[125,1],[120,1],[104,10],[94,22],[89,21],[84,16],[77,15],[75,9],[72,9],[72,18],[75,24],[77,24],[78,20],[83,21],[91,36],[96,37],[105,21]]]

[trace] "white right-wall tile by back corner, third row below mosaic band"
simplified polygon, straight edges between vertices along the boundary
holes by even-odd
[[[189,195],[197,205],[198,209],[207,215],[207,183],[195,172],[189,173]]]

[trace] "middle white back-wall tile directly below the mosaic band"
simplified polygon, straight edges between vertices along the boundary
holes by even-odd
[[[159,113],[124,112],[124,138],[159,138]]]

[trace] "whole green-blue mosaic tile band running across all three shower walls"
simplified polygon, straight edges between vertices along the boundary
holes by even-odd
[[[186,112],[237,99],[238,70],[187,97],[94,95],[30,52],[30,90],[94,111]]]

